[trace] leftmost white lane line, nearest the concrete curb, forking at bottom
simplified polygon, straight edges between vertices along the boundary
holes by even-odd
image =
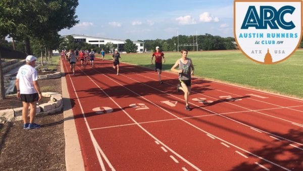
[[[66,64],[65,64],[65,69],[66,69],[66,71],[68,72],[68,69],[67,69]],[[85,113],[84,113],[84,110],[83,110],[82,104],[81,104],[81,102],[80,102],[78,93],[77,93],[77,91],[76,91],[76,88],[75,88],[75,86],[74,86],[74,83],[73,83],[73,81],[72,81],[72,78],[71,78],[71,75],[70,75],[69,72],[68,72],[68,75],[69,75],[70,81],[71,81],[71,83],[72,83],[72,87],[73,87],[73,89],[74,89],[76,98],[77,98],[77,100],[78,100],[78,103],[79,103],[79,106],[80,106],[80,109],[81,109],[81,112],[82,112],[82,116],[83,116],[83,118],[84,118],[84,122],[85,122],[85,125],[86,125],[86,128],[87,128],[87,131],[88,131],[88,133],[89,133],[91,142],[92,142],[92,144],[93,144],[93,148],[94,148],[95,153],[96,153],[96,155],[97,155],[97,158],[98,158],[98,161],[99,161],[99,164],[100,164],[101,169],[102,169],[102,170],[106,170],[105,165],[104,165],[104,163],[103,163],[103,160],[102,160],[100,154],[103,156],[104,160],[108,163],[109,167],[110,167],[112,170],[116,170],[116,169],[113,167],[113,165],[111,164],[110,160],[109,160],[109,159],[107,158],[107,156],[105,155],[104,151],[99,147],[99,145],[98,145],[96,139],[94,138],[94,136],[93,136],[93,134],[92,134],[92,132],[91,132],[91,130],[90,130],[90,127],[89,127],[89,125],[88,125],[88,122],[87,122],[87,119],[86,119],[86,115],[85,115]]]

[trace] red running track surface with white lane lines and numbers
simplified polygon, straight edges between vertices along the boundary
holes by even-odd
[[[86,170],[303,170],[303,101],[95,60],[64,61]]]

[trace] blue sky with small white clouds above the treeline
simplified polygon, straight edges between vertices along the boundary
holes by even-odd
[[[118,39],[177,35],[233,37],[232,0],[79,0],[79,23],[59,33]]]

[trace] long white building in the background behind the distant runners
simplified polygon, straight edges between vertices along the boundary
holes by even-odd
[[[64,35],[64,37],[67,35]],[[74,39],[78,42],[87,42],[95,47],[100,47],[100,45],[105,45],[108,42],[112,42],[114,44],[114,48],[118,49],[119,52],[125,52],[124,44],[125,40],[122,39],[115,39],[115,38],[105,38],[105,37],[94,37],[94,36],[87,36],[87,35],[78,35],[78,34],[71,34]],[[134,44],[138,46],[137,52],[144,51],[144,42],[143,41],[133,41]]]

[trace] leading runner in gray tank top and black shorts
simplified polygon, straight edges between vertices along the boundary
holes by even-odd
[[[177,91],[182,90],[184,92],[185,109],[190,110],[188,105],[188,97],[191,90],[191,75],[193,75],[193,64],[190,58],[187,58],[188,51],[181,50],[182,58],[178,59],[175,65],[171,68],[172,71],[179,73],[179,83]],[[179,69],[175,69],[179,66]]]

